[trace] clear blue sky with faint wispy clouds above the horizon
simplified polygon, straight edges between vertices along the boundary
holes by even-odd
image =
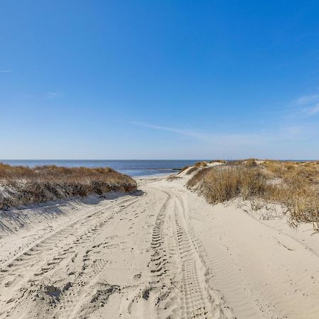
[[[1,159],[319,158],[318,1],[1,1]]]

